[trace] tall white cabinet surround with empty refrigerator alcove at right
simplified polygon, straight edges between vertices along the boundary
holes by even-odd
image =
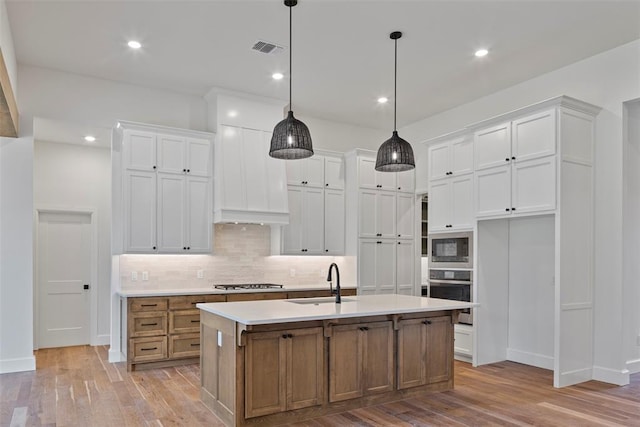
[[[473,298],[479,304],[474,365],[513,360],[553,369],[556,387],[592,378],[599,111],[559,96],[451,135],[449,144],[473,141],[473,173],[465,169],[465,176],[473,181]],[[432,157],[445,139],[432,141]],[[430,188],[443,180],[431,175]],[[429,195],[429,209],[438,212],[433,205],[453,196],[436,195]],[[464,209],[467,215],[467,204]]]

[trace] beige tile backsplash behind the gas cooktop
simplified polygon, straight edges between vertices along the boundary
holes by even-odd
[[[271,256],[269,226],[215,224],[214,233],[215,255],[121,255],[121,289],[209,288],[220,283],[325,285],[332,262],[340,267],[342,284],[356,284],[356,257]]]

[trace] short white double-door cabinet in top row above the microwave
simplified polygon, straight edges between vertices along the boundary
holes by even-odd
[[[431,181],[473,172],[473,140],[459,137],[429,147]]]

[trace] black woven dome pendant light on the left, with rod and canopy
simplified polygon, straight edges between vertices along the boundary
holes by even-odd
[[[298,0],[284,0],[284,5],[289,8],[289,113],[287,118],[282,120],[273,129],[271,137],[271,148],[269,155],[276,159],[305,159],[313,156],[311,145],[311,134],[307,125],[293,117],[291,105],[291,82],[293,72],[291,65],[291,10],[298,4]]]

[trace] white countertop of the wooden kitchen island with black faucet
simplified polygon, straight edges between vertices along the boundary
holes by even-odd
[[[242,301],[198,304],[200,310],[213,313],[243,325],[304,322],[310,320],[365,317],[387,314],[458,310],[477,304],[438,298],[407,295],[360,295],[342,297],[299,298],[269,301]]]

